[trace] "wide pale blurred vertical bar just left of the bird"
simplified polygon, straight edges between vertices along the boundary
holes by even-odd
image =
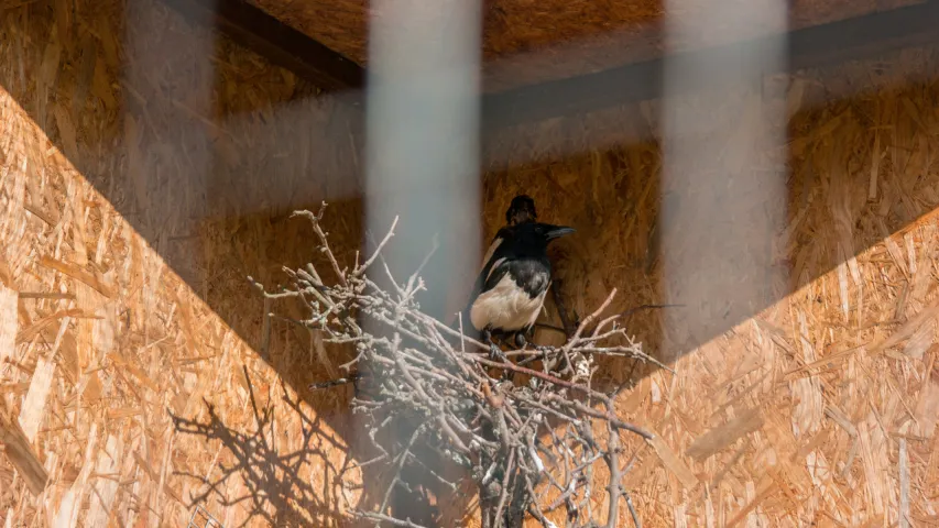
[[[428,288],[421,306],[448,318],[447,297],[457,283],[472,280],[480,258],[481,7],[375,0],[371,9],[367,226],[381,240],[401,217],[385,252],[400,280],[438,238],[421,274]]]

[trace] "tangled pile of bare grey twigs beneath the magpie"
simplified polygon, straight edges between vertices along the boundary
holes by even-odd
[[[316,215],[294,216],[313,223],[335,284],[324,282],[313,264],[284,268],[291,284],[280,292],[252,283],[264,295],[265,306],[276,299],[299,299],[306,319],[293,322],[320,332],[325,343],[354,346],[354,359],[340,366],[349,374],[310,388],[350,382],[371,385],[371,396],[359,394],[352,400],[353,413],[365,417],[365,436],[376,451],[361,465],[390,470],[390,484],[373,494],[380,505],[351,515],[375,526],[421,526],[412,513],[395,512],[390,497],[397,488],[432,494],[433,484],[452,492],[456,484],[441,477],[434,469],[439,464],[427,459],[434,453],[440,463],[462,468],[465,477],[476,483],[485,528],[521,526],[526,514],[545,527],[556,527],[547,515],[560,506],[567,509],[567,527],[600,527],[600,519],[592,518],[591,497],[604,492],[608,510],[598,515],[607,527],[619,526],[622,502],[624,512],[637,520],[622,488],[632,463],[624,459],[620,435],[629,431],[645,439],[652,435],[616,416],[615,393],[591,386],[596,356],[654,362],[614,322],[630,312],[601,319],[615,290],[569,332],[563,346],[509,351],[506,358],[518,363],[493,361],[488,345],[462,334],[462,321],[452,329],[419,310],[416,296],[425,289],[419,268],[404,283],[395,280],[381,251],[394,237],[397,218],[382,241],[373,243],[374,253],[362,264],[357,254],[348,270],[337,261],[320,227],[325,207]],[[373,266],[379,261],[381,266]],[[373,267],[384,273],[393,290],[370,278]],[[590,328],[594,321],[599,322]],[[503,373],[527,382],[506,382]],[[601,488],[594,488],[597,463],[605,464],[610,475]],[[414,474],[424,476],[421,482],[406,476]]]

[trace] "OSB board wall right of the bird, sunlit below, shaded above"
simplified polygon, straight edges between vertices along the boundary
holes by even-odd
[[[632,316],[630,329],[648,352],[680,355],[675,374],[601,363],[599,383],[640,375],[619,402],[620,416],[662,439],[647,447],[626,437],[636,461],[625,487],[643,526],[939,521],[939,85],[932,77],[897,88],[902,76],[936,72],[939,55],[920,50],[893,58],[801,73],[784,98],[767,101],[791,114],[780,123],[789,136],[786,220],[768,250],[747,246],[745,237],[778,204],[751,204],[736,223],[717,226],[679,208],[716,232],[702,233],[710,242],[744,240],[735,248],[740,260],[772,256],[763,262],[784,270],[788,282],[742,299],[753,302],[749,314],[727,307],[735,294],[729,289],[711,304],[695,299]],[[853,97],[806,105],[848,86]],[[630,128],[654,130],[644,120],[655,114],[652,107],[630,110],[638,122]],[[714,108],[714,118],[736,116],[731,110]],[[731,132],[741,121],[714,128]],[[777,155],[766,153],[749,170],[765,170]],[[543,220],[578,229],[553,249],[570,309],[583,317],[613,287],[610,312],[662,302],[663,285],[675,280],[658,251],[662,199],[690,190],[663,183],[659,144],[546,157],[487,174],[485,237],[512,196],[528,193]],[[713,168],[702,161],[702,169]],[[728,191],[694,190],[712,200]],[[741,273],[745,262],[734,264],[722,263],[723,275],[712,278],[754,282]],[[669,300],[684,299],[679,293]],[[548,312],[556,324],[550,304]],[[695,336],[683,320],[707,324]],[[538,339],[557,334],[541,330]],[[604,498],[596,497],[594,510],[605,510]],[[632,526],[622,508],[622,526]]]

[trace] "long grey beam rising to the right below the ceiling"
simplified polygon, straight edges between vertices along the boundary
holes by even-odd
[[[777,36],[686,52],[566,79],[523,86],[483,97],[484,132],[544,119],[570,117],[663,95],[667,63],[707,64],[708,86],[720,87],[739,76],[727,75],[771,45]],[[939,0],[882,11],[789,32],[788,72],[867,58],[904,47],[939,42]],[[751,65],[752,66],[752,65]],[[756,69],[758,70],[758,69]],[[776,74],[782,72],[763,72]],[[756,79],[754,79],[756,80]]]

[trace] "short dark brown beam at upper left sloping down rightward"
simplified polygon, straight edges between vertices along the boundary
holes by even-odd
[[[236,43],[290,69],[324,91],[361,89],[365,72],[244,0],[162,0],[189,20],[215,24]]]

